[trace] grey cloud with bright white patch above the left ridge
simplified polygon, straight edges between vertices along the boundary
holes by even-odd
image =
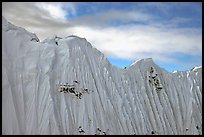
[[[62,34],[65,29],[70,30],[72,25],[66,17],[76,14],[76,11],[72,3],[66,5],[64,7],[65,4],[58,2],[3,2],[2,15],[43,40],[54,34]]]

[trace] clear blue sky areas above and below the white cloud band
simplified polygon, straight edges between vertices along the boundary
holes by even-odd
[[[109,10],[124,10],[124,11],[139,11],[142,13],[150,14],[154,17],[151,20],[145,20],[141,22],[129,20],[129,22],[123,23],[120,20],[116,20],[113,23],[107,23],[104,25],[128,25],[128,24],[145,24],[149,25],[152,22],[163,22],[163,24],[168,24],[168,22],[173,22],[174,28],[197,28],[202,30],[202,4],[201,3],[135,3],[135,2],[128,2],[128,3],[93,3],[93,4],[86,4],[82,3],[78,5],[78,15],[77,16],[84,16],[84,15],[91,15],[96,13],[103,13],[104,11]],[[114,21],[114,20],[113,20]],[[161,24],[162,25],[162,24]],[[169,23],[169,25],[171,25]],[[162,27],[162,26],[161,26]],[[167,26],[168,27],[168,26]],[[168,39],[168,38],[167,38]],[[137,45],[135,45],[137,46]],[[200,45],[201,46],[201,45]],[[200,52],[201,53],[201,52]],[[191,69],[193,65],[201,65],[201,54],[198,55],[189,55],[185,53],[172,53],[172,58],[176,58],[182,63],[168,63],[163,61],[155,61],[161,67],[167,69],[168,71],[174,70],[187,70]],[[134,62],[134,59],[128,58],[114,58],[108,57],[109,61],[116,66],[119,67],[126,67]],[[196,62],[191,66],[191,62]],[[185,64],[186,63],[186,64]]]

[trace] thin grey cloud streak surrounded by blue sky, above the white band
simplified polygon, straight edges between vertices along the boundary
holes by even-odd
[[[90,27],[106,27],[111,22],[128,23],[128,22],[145,22],[151,20],[152,16],[148,14],[134,12],[134,11],[122,11],[122,10],[110,10],[102,13],[95,13],[91,15],[84,15],[78,17],[72,21],[73,24],[80,26]]]

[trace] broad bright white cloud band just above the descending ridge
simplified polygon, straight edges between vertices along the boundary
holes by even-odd
[[[104,29],[76,27],[75,35],[85,37],[97,49],[123,59],[152,57],[176,62],[174,53],[192,56],[202,51],[202,35],[197,29],[165,30],[153,26],[123,26]]]

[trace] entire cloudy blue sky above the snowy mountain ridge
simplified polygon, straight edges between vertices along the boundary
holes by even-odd
[[[143,58],[169,72],[202,66],[201,2],[3,2],[2,15],[40,41],[86,38],[121,68]]]

